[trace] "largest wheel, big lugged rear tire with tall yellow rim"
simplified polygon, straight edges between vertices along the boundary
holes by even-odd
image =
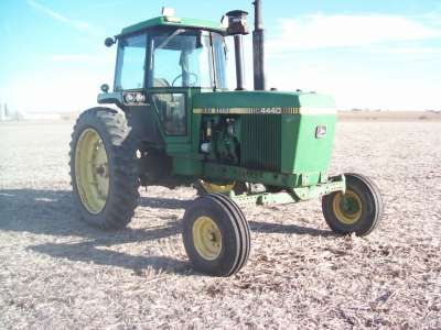
[[[130,222],[139,199],[137,143],[121,111],[93,108],[79,116],[69,167],[83,220],[106,229]]]

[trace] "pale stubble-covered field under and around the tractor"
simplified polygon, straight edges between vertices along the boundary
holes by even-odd
[[[128,229],[78,221],[72,122],[0,124],[0,328],[441,328],[441,123],[343,122],[332,172],[380,187],[366,239],[336,237],[319,201],[248,208],[247,266],[189,267],[192,188],[150,187]]]

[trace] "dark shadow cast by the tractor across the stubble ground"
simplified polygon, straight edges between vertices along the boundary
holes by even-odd
[[[179,210],[185,209],[191,202],[171,198],[141,198],[140,206]],[[263,221],[249,221],[249,224],[252,231],[261,233],[333,235],[331,231],[295,224]],[[155,227],[100,230],[79,220],[73,193],[67,190],[0,190],[0,231],[41,235],[39,240],[44,243],[29,245],[28,249],[55,258],[117,266],[132,270],[135,274],[147,268],[180,275],[192,273],[190,264],[182,260],[151,254],[131,255],[109,249],[119,244],[157,241],[178,235],[182,231],[181,219],[164,217],[163,223]],[[58,243],[60,241],[64,242]]]

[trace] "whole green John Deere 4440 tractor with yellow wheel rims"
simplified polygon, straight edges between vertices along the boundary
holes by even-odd
[[[375,184],[357,174],[330,176],[336,110],[331,97],[266,90],[260,0],[255,4],[254,88],[244,88],[247,12],[223,22],[163,14],[106,38],[117,43],[114,90],[101,86],[72,134],[72,185],[82,218],[127,226],[139,186],[194,185],[183,241],[194,270],[230,276],[247,262],[250,230],[240,205],[322,198],[341,234],[366,235],[383,212]],[[227,89],[225,38],[233,36],[235,90]]]

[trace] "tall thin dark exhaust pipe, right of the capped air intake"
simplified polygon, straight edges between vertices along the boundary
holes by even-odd
[[[255,90],[265,90],[265,52],[261,0],[255,0],[255,30],[252,31],[252,69]]]

